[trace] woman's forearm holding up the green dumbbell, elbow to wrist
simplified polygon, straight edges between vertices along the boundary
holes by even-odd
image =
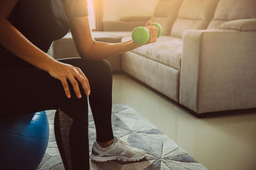
[[[132,40],[122,43],[104,43],[95,41],[90,50],[83,53],[81,57],[89,60],[107,59],[120,53],[128,52],[141,45],[137,45]]]

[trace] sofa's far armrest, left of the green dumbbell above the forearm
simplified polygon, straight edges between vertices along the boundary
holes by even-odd
[[[103,21],[103,31],[132,31],[135,27],[144,26],[144,21]]]

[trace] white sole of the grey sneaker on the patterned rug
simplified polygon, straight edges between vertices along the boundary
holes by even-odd
[[[146,154],[138,157],[136,159],[129,159],[127,157],[122,157],[122,156],[115,156],[115,157],[95,157],[94,155],[92,155],[92,153],[90,154],[90,158],[95,161],[95,162],[107,162],[109,160],[120,160],[123,162],[136,162],[136,161],[140,161],[141,159],[145,158]]]

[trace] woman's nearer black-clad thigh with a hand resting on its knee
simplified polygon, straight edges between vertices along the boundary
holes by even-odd
[[[73,118],[87,113],[87,96],[81,91],[82,98],[78,99],[70,88],[72,97],[68,99],[61,81],[45,71],[36,68],[5,69],[0,71],[0,76],[0,116],[58,108]]]

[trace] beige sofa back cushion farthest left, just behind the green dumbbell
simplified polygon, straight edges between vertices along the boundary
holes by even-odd
[[[173,22],[178,15],[182,0],[160,0],[157,4],[154,15],[150,18],[152,22],[162,25],[164,35],[170,35]]]

